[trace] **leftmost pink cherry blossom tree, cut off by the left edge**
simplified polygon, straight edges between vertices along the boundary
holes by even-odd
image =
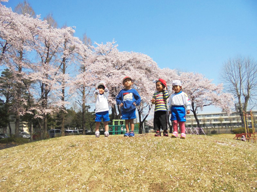
[[[20,116],[26,112],[26,100],[22,96],[22,87],[28,79],[26,69],[28,69],[28,59],[31,31],[34,30],[34,21],[39,19],[32,18],[29,14],[19,15],[0,4],[0,30],[1,30],[1,56],[0,63],[8,68],[13,78],[15,104],[15,136],[19,136]],[[26,87],[26,86],[25,86]]]

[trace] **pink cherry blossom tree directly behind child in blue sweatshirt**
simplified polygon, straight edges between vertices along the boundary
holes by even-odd
[[[120,108],[116,105],[115,98],[119,91],[123,89],[122,79],[125,76],[131,76],[134,80],[134,88],[141,96],[141,104],[138,106],[140,132],[142,132],[142,123],[148,116],[142,118],[143,110],[151,110],[150,100],[155,90],[155,80],[159,76],[159,68],[151,57],[135,52],[119,52],[115,42],[107,42],[105,45],[96,44],[93,54],[87,61],[90,63],[87,75],[87,81],[91,82],[89,86],[93,88],[97,82],[106,82],[109,89],[109,105],[112,107],[113,119],[119,118]],[[150,108],[149,108],[150,106]],[[118,110],[118,111],[117,111]]]

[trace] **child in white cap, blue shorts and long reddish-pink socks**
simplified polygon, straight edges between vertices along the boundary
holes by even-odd
[[[182,92],[182,84],[180,80],[174,80],[172,82],[172,90],[175,91],[170,96],[169,101],[169,113],[171,114],[171,121],[173,121],[173,134],[171,137],[178,137],[178,124],[180,127],[180,138],[186,139],[186,113],[190,114],[191,102],[188,95]],[[186,112],[186,109],[187,112]]]

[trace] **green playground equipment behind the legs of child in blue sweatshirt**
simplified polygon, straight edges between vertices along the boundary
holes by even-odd
[[[138,124],[134,124],[134,133],[138,134]],[[130,129],[130,127],[129,127]],[[131,130],[131,129],[130,129]],[[109,134],[110,135],[121,135],[126,133],[125,120],[123,119],[114,119],[113,125],[109,125]]]

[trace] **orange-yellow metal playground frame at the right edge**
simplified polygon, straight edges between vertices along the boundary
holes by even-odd
[[[254,133],[254,120],[253,120],[252,111],[250,111],[248,113],[243,111],[243,114],[244,114],[246,140],[248,142],[250,142],[250,140],[253,140],[253,142],[256,143],[256,137],[255,137],[256,133]],[[252,133],[249,132],[249,126],[248,126],[249,119],[251,120]]]

